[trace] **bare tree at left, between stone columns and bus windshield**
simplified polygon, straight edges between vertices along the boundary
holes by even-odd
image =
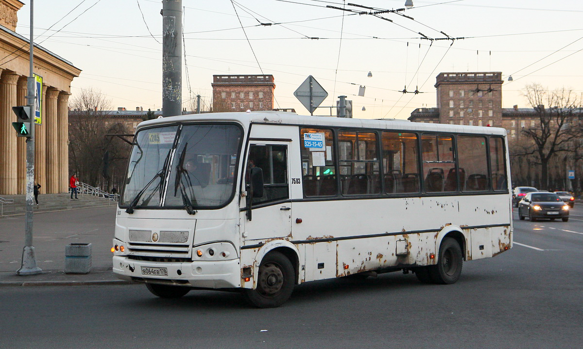
[[[93,88],[82,89],[69,103],[69,172],[90,186],[110,189],[121,183],[129,145],[106,134],[128,133],[108,116],[111,102]],[[107,162],[104,155],[107,152]],[[113,174],[111,176],[110,174]],[[105,178],[104,178],[105,176]],[[119,184],[117,184],[119,185]]]

